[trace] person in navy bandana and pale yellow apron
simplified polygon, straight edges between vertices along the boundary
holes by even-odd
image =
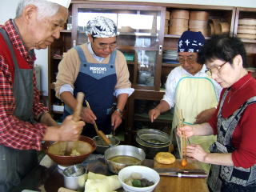
[[[206,66],[196,62],[198,50],[204,42],[205,38],[201,32],[185,31],[182,34],[178,40],[178,58],[181,66],[170,72],[166,81],[166,94],[158,106],[149,112],[153,122],[159,114],[174,107],[171,138],[180,122],[180,110],[184,123],[194,124],[209,120],[218,105],[221,87],[206,75]],[[212,136],[190,138],[190,143],[200,144],[204,149],[208,149],[214,141]],[[204,168],[208,170],[207,166]]]

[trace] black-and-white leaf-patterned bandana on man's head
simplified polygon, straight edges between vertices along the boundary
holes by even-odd
[[[112,38],[117,36],[117,26],[110,18],[98,16],[87,22],[86,34],[94,38]]]

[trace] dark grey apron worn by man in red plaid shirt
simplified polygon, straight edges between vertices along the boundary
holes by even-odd
[[[26,122],[34,122],[32,106],[34,98],[33,69],[20,69],[17,56],[5,30],[0,29],[2,37],[9,47],[14,62],[14,98],[16,108],[14,116]],[[1,35],[0,34],[0,35]],[[19,62],[26,62],[25,60]],[[36,150],[17,150],[0,146],[0,191],[9,191],[22,181],[38,165]]]

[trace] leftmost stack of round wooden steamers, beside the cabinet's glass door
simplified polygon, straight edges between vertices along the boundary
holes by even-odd
[[[170,12],[169,34],[182,35],[188,30],[190,12],[188,10],[172,10]]]

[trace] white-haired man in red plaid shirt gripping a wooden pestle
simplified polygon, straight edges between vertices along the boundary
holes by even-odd
[[[0,26],[1,192],[16,190],[38,165],[36,150],[41,150],[42,140],[76,141],[85,125],[73,122],[72,116],[58,125],[39,102],[34,48],[45,49],[59,37],[70,1],[58,3],[23,0],[18,4],[17,17]]]

